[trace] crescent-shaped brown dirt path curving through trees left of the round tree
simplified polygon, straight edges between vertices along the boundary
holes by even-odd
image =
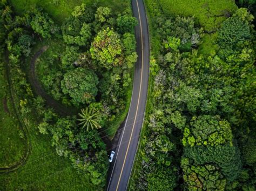
[[[48,49],[47,46],[43,46],[42,49],[40,49],[32,58],[31,63],[30,63],[30,76],[29,76],[29,81],[30,84],[35,91],[37,95],[40,95],[44,100],[46,101],[46,105],[50,106],[55,110],[56,113],[59,115],[77,115],[78,110],[75,107],[69,107],[65,106],[63,104],[60,104],[58,101],[53,99],[41,86],[39,83],[37,77],[36,77],[36,72],[35,72],[35,67],[36,67],[36,60],[41,56],[41,54]]]

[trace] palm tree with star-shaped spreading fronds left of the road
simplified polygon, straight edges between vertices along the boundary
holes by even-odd
[[[79,113],[81,119],[78,119],[78,121],[81,121],[79,125],[83,125],[82,128],[86,127],[86,131],[94,128],[102,128],[102,126],[100,126],[97,122],[100,115],[98,111],[95,111],[93,108],[86,107],[85,109],[82,109],[81,112],[82,113]]]

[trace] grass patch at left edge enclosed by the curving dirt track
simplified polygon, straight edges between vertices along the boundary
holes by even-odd
[[[14,166],[26,152],[25,140],[20,137],[22,130],[9,102],[5,82],[3,72],[0,72],[0,168]],[[7,101],[7,110],[4,109],[4,99]]]

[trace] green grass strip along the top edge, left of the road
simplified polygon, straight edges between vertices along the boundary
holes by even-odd
[[[23,14],[35,5],[41,6],[58,24],[70,16],[75,6],[95,2],[101,6],[109,6],[114,11],[124,11],[130,4],[129,0],[10,0],[10,4],[17,13]]]

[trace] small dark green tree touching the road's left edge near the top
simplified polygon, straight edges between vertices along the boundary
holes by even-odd
[[[123,15],[117,18],[118,31],[122,34],[125,32],[132,32],[134,30],[134,26],[137,24],[137,19],[129,15]]]

